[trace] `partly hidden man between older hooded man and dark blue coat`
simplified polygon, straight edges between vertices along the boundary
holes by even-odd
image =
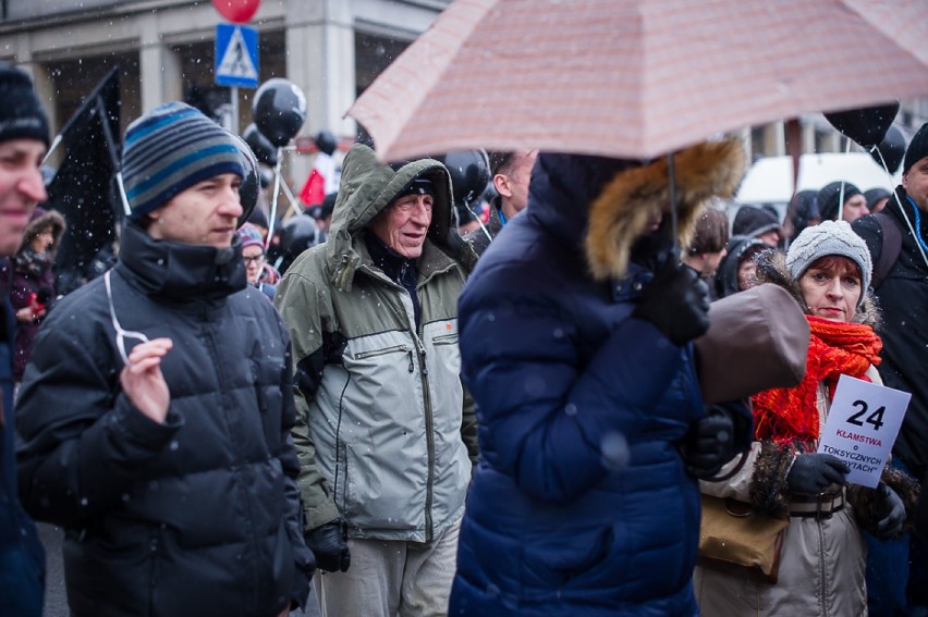
[[[480,229],[464,236],[478,256],[484,254],[503,226],[528,205],[528,183],[537,158],[538,150],[489,152],[490,181],[497,197],[490,202],[486,232]]]

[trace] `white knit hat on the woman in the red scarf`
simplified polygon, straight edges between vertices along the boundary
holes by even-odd
[[[854,233],[846,221],[823,221],[803,230],[803,233],[790,245],[790,250],[786,252],[786,268],[790,269],[793,280],[798,281],[809,266],[829,255],[846,257],[860,269],[864,288],[857,303],[859,308],[870,287],[874,267],[867,243]]]

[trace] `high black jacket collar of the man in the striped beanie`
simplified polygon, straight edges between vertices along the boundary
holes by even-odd
[[[135,223],[123,227],[120,264],[148,296],[171,300],[213,300],[245,288],[242,244],[229,248],[156,240]]]

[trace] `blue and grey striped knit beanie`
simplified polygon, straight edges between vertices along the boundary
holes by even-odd
[[[135,221],[223,173],[245,175],[234,136],[188,104],[158,107],[125,132],[122,177]]]

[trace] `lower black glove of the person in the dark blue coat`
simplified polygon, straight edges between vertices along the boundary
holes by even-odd
[[[686,472],[694,478],[716,476],[734,455],[734,421],[722,407],[706,407],[706,416],[689,425],[680,444],[680,454],[686,462]]]

